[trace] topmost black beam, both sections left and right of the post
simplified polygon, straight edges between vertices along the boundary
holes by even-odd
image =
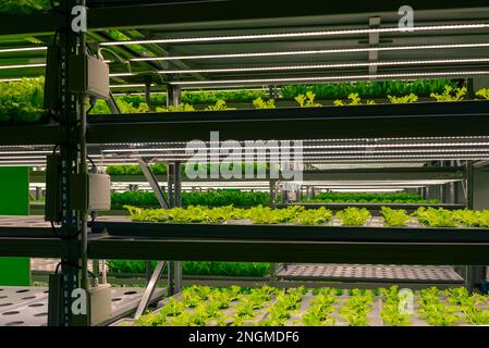
[[[149,2],[149,4],[148,4]],[[352,21],[357,16],[398,15],[398,9],[403,1],[362,1],[352,0],[347,3],[314,0],[307,7],[297,7],[292,0],[281,1],[280,7],[264,1],[187,1],[166,2],[146,1],[146,4],[134,1],[119,1],[115,5],[101,1],[91,1],[88,14],[90,30],[107,28],[147,28],[166,27],[173,29],[203,29],[206,26],[227,27],[230,24],[243,26],[245,24],[273,25],[280,21],[281,25],[301,24],[301,17],[318,18],[323,16],[344,15]],[[409,2],[417,13],[431,11],[437,17],[443,18],[447,13],[459,13],[467,9],[487,9],[484,0],[447,0],[444,2],[412,0]],[[259,8],[260,11],[256,11]],[[474,10],[476,11],[476,10]],[[28,36],[53,33],[57,27],[65,26],[62,14],[54,12],[36,13],[19,18],[19,16],[0,16],[0,36]]]

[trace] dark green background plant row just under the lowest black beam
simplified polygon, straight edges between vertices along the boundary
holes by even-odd
[[[145,274],[145,261],[108,260],[110,273],[114,274]],[[151,262],[151,270],[157,262]],[[167,269],[166,269],[167,270]],[[164,270],[164,272],[166,272]],[[270,274],[270,264],[260,262],[207,262],[184,261],[182,263],[184,275],[215,275],[215,276],[266,276]]]

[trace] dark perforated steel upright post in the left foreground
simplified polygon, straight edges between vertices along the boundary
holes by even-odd
[[[74,174],[87,174],[86,150],[86,103],[87,96],[72,92],[70,70],[76,69],[77,75],[87,76],[85,65],[72,66],[74,58],[83,58],[86,52],[86,33],[75,33],[71,29],[71,9],[75,5],[85,7],[85,0],[70,0],[61,2],[65,13],[65,28],[60,29],[59,45],[59,78],[61,88],[59,113],[62,138],[58,146],[61,156],[61,212],[60,228],[62,254],[60,263],[60,277],[58,282],[50,282],[50,297],[53,300],[48,313],[48,324],[59,326],[87,326],[90,325],[90,306],[87,277],[87,211],[73,209],[71,188],[80,183],[72,183]],[[82,70],[82,71],[80,71]],[[87,200],[87,197],[80,197]],[[87,301],[86,310],[81,308],[73,311],[74,290],[85,290]],[[56,297],[56,299],[54,299]],[[83,306],[83,304],[81,304]]]

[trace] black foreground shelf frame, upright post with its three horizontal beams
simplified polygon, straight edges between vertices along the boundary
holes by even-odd
[[[85,1],[70,0],[69,4],[85,4]],[[332,7],[325,1],[315,1],[315,5],[297,8],[296,2],[282,2],[280,7],[260,3],[260,11],[257,12],[252,2],[239,3],[237,1],[152,5],[140,5],[140,3],[135,5],[133,3],[133,5],[125,7],[94,8],[88,16],[88,26],[91,30],[113,27],[157,28],[180,29],[183,33],[192,34],[192,30],[195,33],[197,30],[225,29],[232,23],[235,29],[241,26],[242,28],[255,28],[258,33],[270,33],[270,25],[277,27],[285,25],[290,28],[294,28],[293,25],[301,25],[307,28],[325,23],[325,18],[335,18],[334,24],[337,25],[362,28],[365,27],[365,21],[371,13],[382,14],[387,23],[393,23],[399,20],[396,9],[403,4],[401,1],[372,4],[355,0],[353,3],[338,3]],[[447,18],[459,21],[464,17],[473,21],[474,13],[479,13],[478,10],[480,13],[488,11],[487,1],[475,0],[445,1],[442,9],[420,0],[413,1],[412,5],[428,23],[444,23],[443,20]],[[68,5],[64,10],[66,9],[69,9]],[[2,18],[0,21],[1,37],[15,38],[34,34],[53,34],[57,28],[70,23],[68,13],[66,11],[66,15],[38,14],[32,16],[32,21],[30,18],[25,21]],[[427,13],[432,15],[429,16]],[[456,37],[455,34],[448,34],[451,41]],[[477,38],[478,35],[474,37]],[[351,35],[347,38],[355,45],[365,41],[365,36]],[[85,34],[78,37],[71,33],[61,33],[60,42],[62,42],[63,52],[74,51],[77,48],[78,39],[83,44],[82,47],[85,48]],[[280,40],[278,41],[281,44]],[[64,59],[68,60],[66,57]],[[64,71],[64,73],[66,72]],[[86,75],[86,72],[84,74]],[[65,194],[69,191],[71,174],[86,173],[85,159],[84,156],[81,156],[85,153],[86,145],[190,141],[207,139],[210,132],[213,130],[220,132],[221,140],[489,136],[489,103],[477,101],[95,115],[86,125],[85,103],[76,100],[77,98],[72,98],[73,95],[66,87],[70,86],[68,77],[63,83],[65,101],[60,111],[64,126],[53,122],[42,125],[2,125],[0,127],[0,146],[54,146],[63,141],[70,144],[72,148],[80,147],[81,153],[70,147],[61,149],[63,161],[69,163],[61,174],[64,183],[62,189]],[[86,96],[78,97],[83,99]],[[70,102],[71,100],[75,102]],[[66,126],[78,121],[81,129]],[[473,187],[469,190],[473,190]],[[145,227],[154,228],[154,231],[148,232],[146,237],[142,237],[140,231],[134,229],[139,228],[137,224],[127,224],[125,226],[129,226],[131,236],[102,234],[88,237],[85,228],[86,211],[74,212],[69,192],[63,197],[65,212],[61,233],[68,236],[73,235],[74,232],[81,232],[80,240],[60,240],[48,237],[46,234],[52,233],[50,227],[36,229],[22,227],[21,235],[15,235],[15,227],[0,228],[0,256],[2,257],[61,258],[72,263],[72,265],[65,263],[61,268],[62,274],[68,279],[64,287],[60,288],[64,294],[60,298],[60,303],[62,303],[60,313],[63,314],[54,320],[61,325],[80,324],[75,323],[69,314],[72,299],[68,294],[74,287],[87,287],[84,284],[87,277],[87,258],[95,260],[489,264],[489,234],[486,229],[459,228],[429,232],[426,228],[395,231],[382,228],[382,231],[377,231],[334,227],[332,229],[326,229],[326,227],[325,229],[309,229],[299,226],[154,225]],[[120,227],[125,228],[122,225]],[[176,232],[180,235],[175,235]],[[186,234],[186,237],[182,237],[182,232]],[[134,233],[137,236],[134,236]],[[161,236],[161,233],[166,233],[167,236]],[[213,238],[209,236],[213,236]],[[83,272],[73,266],[73,263],[80,265]],[[87,321],[82,324],[86,325]]]

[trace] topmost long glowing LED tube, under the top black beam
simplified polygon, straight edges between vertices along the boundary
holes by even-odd
[[[409,28],[409,32],[437,32],[437,30],[465,30],[465,29],[486,29],[487,23],[473,24],[449,24],[449,25],[424,25]],[[340,35],[359,35],[359,34],[388,34],[405,33],[401,27],[388,28],[365,28],[365,29],[338,29],[338,30],[318,30],[318,32],[296,32],[296,33],[271,33],[271,34],[252,34],[252,35],[227,35],[210,37],[191,37],[173,39],[142,39],[125,41],[101,42],[100,46],[124,46],[124,45],[146,45],[146,44],[198,44],[198,42],[223,42],[223,41],[248,41],[285,38],[307,38],[317,36],[340,36]]]

